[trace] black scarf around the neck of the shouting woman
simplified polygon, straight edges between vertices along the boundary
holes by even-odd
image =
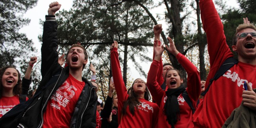
[[[180,120],[180,109],[178,103],[178,96],[186,90],[185,86],[180,85],[178,88],[168,89],[165,93],[167,96],[164,104],[164,113],[167,116],[167,121],[174,128],[174,124]]]

